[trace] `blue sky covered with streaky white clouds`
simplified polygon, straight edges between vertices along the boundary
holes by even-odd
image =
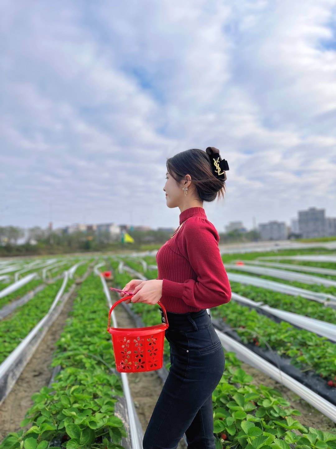
[[[215,146],[219,232],[336,216],[336,1],[0,4],[0,226],[179,225],[166,160]]]

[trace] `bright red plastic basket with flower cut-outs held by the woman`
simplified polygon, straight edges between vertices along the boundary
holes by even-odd
[[[164,312],[165,323],[135,329],[110,327],[112,310],[130,297],[116,301],[108,313],[108,333],[112,336],[116,370],[120,373],[159,370],[164,360],[164,332],[169,326],[166,309],[160,301],[157,304]]]

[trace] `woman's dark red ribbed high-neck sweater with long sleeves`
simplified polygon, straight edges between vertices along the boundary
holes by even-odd
[[[198,312],[228,303],[228,282],[215,226],[202,207],[180,214],[180,229],[156,253],[158,277],[163,279],[160,302],[167,312]]]

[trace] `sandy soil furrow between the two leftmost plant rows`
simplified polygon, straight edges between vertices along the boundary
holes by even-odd
[[[52,354],[55,343],[60,338],[60,334],[65,325],[65,319],[72,309],[73,299],[77,292],[72,295],[64,305],[60,315],[56,318],[47,334],[36,348],[33,357],[30,359],[21,376],[17,379],[12,391],[4,400],[0,410],[0,441],[9,432],[17,432],[21,429],[20,423],[25,418],[26,411],[33,405],[31,395],[34,392],[48,385],[52,376]],[[28,424],[25,429],[28,429]]]

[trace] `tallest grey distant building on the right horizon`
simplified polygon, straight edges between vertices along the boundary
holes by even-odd
[[[298,211],[298,222],[302,238],[326,236],[325,209],[310,207],[306,211]]]

